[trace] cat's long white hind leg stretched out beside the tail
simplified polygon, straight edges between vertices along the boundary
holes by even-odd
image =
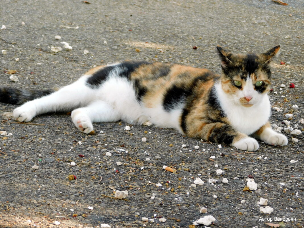
[[[94,98],[94,90],[85,86],[85,78],[41,98],[26,102],[16,108],[13,116],[19,122],[29,122],[33,117],[57,111],[71,111]]]

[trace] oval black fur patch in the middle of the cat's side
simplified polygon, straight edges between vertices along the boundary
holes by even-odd
[[[163,100],[164,110],[167,112],[175,108],[175,106],[184,100],[191,93],[191,88],[178,87],[173,85],[168,89]]]

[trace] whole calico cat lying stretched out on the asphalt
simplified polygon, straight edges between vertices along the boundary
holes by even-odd
[[[284,146],[287,138],[268,123],[269,64],[279,49],[232,54],[218,46],[221,76],[177,64],[125,61],[95,67],[56,92],[2,87],[0,102],[24,103],[13,112],[20,122],[47,112],[73,110],[73,123],[86,134],[93,131],[94,122],[150,121],[154,126],[175,128],[189,137],[241,150],[258,149],[253,137]]]

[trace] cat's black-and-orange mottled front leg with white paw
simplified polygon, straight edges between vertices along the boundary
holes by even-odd
[[[188,127],[188,135],[203,140],[231,145],[240,150],[254,151],[259,148],[257,140],[234,130],[227,123],[201,123],[198,128]]]

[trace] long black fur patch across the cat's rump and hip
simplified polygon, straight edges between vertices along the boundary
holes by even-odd
[[[131,73],[142,64],[149,63],[146,61],[126,61],[117,65],[102,68],[87,79],[87,85],[91,88],[98,88],[114,71],[118,72],[119,77],[129,79]]]

